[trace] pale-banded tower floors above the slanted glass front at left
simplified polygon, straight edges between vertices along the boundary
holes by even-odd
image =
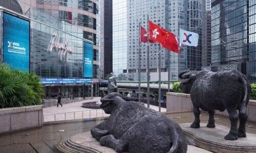
[[[36,0],[36,8],[82,30],[94,43],[94,78],[99,78],[99,1]]]

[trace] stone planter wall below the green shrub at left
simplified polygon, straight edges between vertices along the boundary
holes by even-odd
[[[0,134],[42,126],[42,106],[0,109]]]

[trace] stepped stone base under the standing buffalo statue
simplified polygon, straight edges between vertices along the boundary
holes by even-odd
[[[197,147],[212,152],[256,152],[256,135],[246,133],[246,138],[238,138],[236,141],[225,140],[229,127],[216,124],[215,128],[206,127],[206,123],[200,123],[199,129],[190,127],[191,123],[179,124],[189,142]]]

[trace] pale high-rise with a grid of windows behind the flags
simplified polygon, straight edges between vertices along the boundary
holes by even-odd
[[[199,33],[198,47],[186,47],[182,54],[170,53],[170,78],[178,80],[184,70],[201,69],[204,1],[113,1],[113,72],[120,81],[138,81],[138,59],[141,59],[141,80],[146,81],[147,44],[141,43],[138,57],[139,22],[147,29],[149,19],[166,30],[179,35],[179,28]],[[158,44],[150,44],[151,81],[167,81],[168,51],[161,48],[161,69],[158,68]]]

